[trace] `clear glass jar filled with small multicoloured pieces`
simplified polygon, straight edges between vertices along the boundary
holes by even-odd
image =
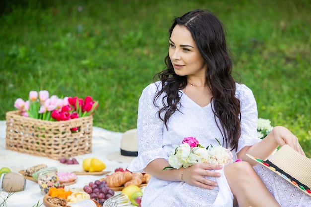
[[[57,188],[60,185],[56,173],[56,170],[48,169],[38,175],[39,188],[43,194],[47,194],[51,187]]]

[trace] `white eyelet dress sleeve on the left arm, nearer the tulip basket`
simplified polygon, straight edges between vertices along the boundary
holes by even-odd
[[[132,172],[143,172],[143,169],[157,158],[167,159],[162,148],[164,122],[158,116],[159,108],[153,103],[159,82],[147,86],[138,102],[137,142],[138,156],[128,166]],[[162,98],[157,103],[161,103]]]

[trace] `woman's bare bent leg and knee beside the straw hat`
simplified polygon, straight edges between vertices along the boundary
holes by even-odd
[[[225,165],[224,173],[239,207],[281,207],[248,162]]]

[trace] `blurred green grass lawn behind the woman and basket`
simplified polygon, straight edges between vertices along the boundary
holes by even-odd
[[[311,156],[310,0],[2,4],[0,120],[15,110],[17,98],[45,89],[98,100],[95,126],[118,132],[135,128],[141,91],[164,68],[173,16],[205,8],[226,26],[234,70],[253,90],[259,117],[288,127]]]

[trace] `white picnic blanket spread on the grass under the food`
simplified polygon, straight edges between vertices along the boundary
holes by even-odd
[[[25,170],[37,164],[46,164],[48,167],[57,167],[60,172],[83,171],[82,162],[84,158],[96,157],[106,164],[107,168],[105,171],[114,171],[119,167],[125,169],[129,163],[120,163],[106,158],[107,154],[120,151],[122,134],[120,132],[112,132],[99,127],[93,127],[92,153],[75,156],[79,165],[66,165],[60,163],[58,160],[7,150],[5,148],[6,122],[0,121],[0,168],[4,166],[9,167],[12,172],[18,173],[20,170]],[[104,175],[78,175],[76,183],[70,185],[70,187],[83,188],[89,182],[94,182],[102,177]],[[0,193],[0,204],[7,196],[7,192],[2,191]],[[41,207],[44,207],[43,197],[44,195],[41,193],[38,184],[27,180],[25,190],[15,192],[9,196],[6,201],[6,207],[36,207],[38,201],[39,205],[42,204]]]

